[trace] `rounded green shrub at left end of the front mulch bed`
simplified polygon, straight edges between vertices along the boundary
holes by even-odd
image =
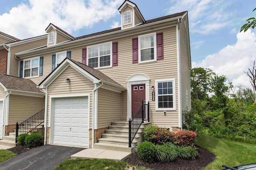
[[[156,156],[156,146],[151,142],[142,142],[137,147],[137,154],[140,159],[152,162]]]

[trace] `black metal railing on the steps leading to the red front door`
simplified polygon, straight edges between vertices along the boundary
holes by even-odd
[[[129,148],[132,147],[132,141],[140,129],[140,125],[144,123],[144,121],[149,122],[149,102],[148,104],[144,104],[142,100],[142,104],[134,117],[129,120]]]

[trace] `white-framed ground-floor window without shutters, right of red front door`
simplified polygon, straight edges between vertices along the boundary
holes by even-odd
[[[156,110],[176,110],[175,79],[156,80]]]

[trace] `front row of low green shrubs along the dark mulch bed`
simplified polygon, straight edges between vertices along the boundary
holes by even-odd
[[[137,154],[140,159],[146,162],[158,160],[160,162],[171,162],[176,158],[195,159],[198,151],[195,147],[176,147],[172,143],[154,145],[151,142],[142,142],[137,147]]]

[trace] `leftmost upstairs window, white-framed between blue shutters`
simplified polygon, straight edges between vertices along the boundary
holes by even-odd
[[[39,57],[24,60],[24,78],[39,76]]]

